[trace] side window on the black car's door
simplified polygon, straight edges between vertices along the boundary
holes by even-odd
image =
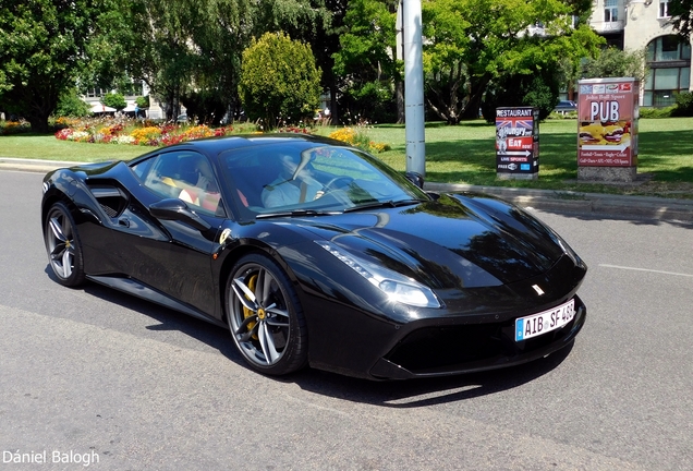
[[[146,188],[163,198],[180,198],[202,214],[224,214],[219,183],[209,160],[202,154],[191,150],[160,154],[139,162],[133,167],[133,171]]]

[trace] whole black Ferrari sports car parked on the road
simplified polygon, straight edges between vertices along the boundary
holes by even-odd
[[[417,177],[311,135],[199,140],[48,173],[44,238],[58,282],[229,328],[266,374],[450,375],[570,345],[575,252],[523,209]]]

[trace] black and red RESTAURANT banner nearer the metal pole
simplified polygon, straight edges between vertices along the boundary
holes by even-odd
[[[504,179],[536,179],[539,172],[539,109],[496,109],[496,172]]]

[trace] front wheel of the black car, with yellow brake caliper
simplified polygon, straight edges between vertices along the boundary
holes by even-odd
[[[252,369],[285,375],[307,363],[307,329],[299,297],[283,270],[260,254],[242,257],[227,281],[231,338]]]

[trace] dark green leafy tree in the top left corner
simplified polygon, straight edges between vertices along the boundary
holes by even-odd
[[[36,132],[88,61],[86,45],[105,7],[99,0],[34,0],[0,7],[0,109]]]

